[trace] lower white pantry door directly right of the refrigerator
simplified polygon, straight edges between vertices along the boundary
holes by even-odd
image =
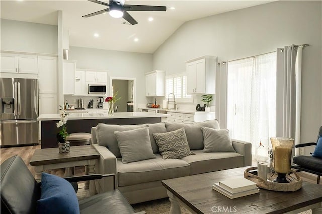
[[[39,94],[39,114],[58,113],[56,94]]]

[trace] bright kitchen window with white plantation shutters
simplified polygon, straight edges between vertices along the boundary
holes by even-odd
[[[166,77],[166,96],[174,93],[176,102],[193,102],[193,97],[187,94],[187,76],[186,73],[170,75]]]

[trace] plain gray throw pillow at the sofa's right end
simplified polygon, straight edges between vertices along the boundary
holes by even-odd
[[[234,152],[229,131],[226,129],[213,129],[202,127],[203,152]]]

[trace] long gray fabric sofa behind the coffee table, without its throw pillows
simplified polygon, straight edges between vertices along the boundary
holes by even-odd
[[[196,123],[162,122],[148,124],[151,146],[156,158],[122,163],[114,131],[127,131],[143,125],[98,124],[92,128],[92,144],[100,153],[95,171],[100,174],[115,173],[116,188],[131,204],[167,197],[161,181],[170,178],[213,172],[223,169],[251,165],[251,143],[232,139],[234,152],[203,152],[203,132],[201,127],[220,129],[217,120]],[[195,155],[182,159],[163,159],[153,137],[153,133],[170,132],[184,127],[188,145]],[[95,181],[90,188],[97,193],[113,189],[112,178]]]

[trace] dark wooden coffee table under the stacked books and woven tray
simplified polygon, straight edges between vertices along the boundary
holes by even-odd
[[[229,199],[212,189],[216,182],[244,177],[248,167],[163,180],[171,202],[170,213],[181,213],[179,203],[192,213],[299,213],[312,209],[322,213],[322,186],[303,181],[295,192],[260,189],[260,193]]]

